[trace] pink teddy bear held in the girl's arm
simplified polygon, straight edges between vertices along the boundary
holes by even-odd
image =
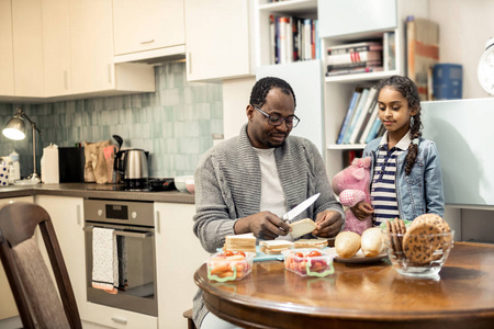
[[[339,195],[339,202],[352,207],[361,201],[370,204],[370,167],[371,158],[356,158],[351,164],[333,178],[333,190]],[[372,227],[372,218],[358,219],[350,208],[345,211],[345,230],[359,235]]]

